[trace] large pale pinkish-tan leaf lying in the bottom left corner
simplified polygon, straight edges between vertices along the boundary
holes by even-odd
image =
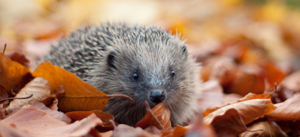
[[[0,124],[14,126],[18,131],[33,137],[78,137],[87,135],[96,124],[101,124],[101,120],[91,114],[86,119],[67,125],[43,110],[24,108],[2,120]]]

